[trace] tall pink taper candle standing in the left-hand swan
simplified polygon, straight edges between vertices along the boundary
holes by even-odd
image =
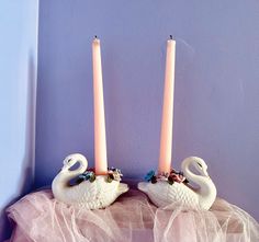
[[[92,66],[94,112],[94,165],[95,174],[103,175],[108,172],[106,135],[103,104],[101,47],[100,41],[97,37],[92,42]]]

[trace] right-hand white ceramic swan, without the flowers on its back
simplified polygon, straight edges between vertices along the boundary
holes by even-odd
[[[193,166],[198,174],[190,168]],[[172,203],[181,203],[184,208],[200,208],[209,210],[216,198],[216,187],[207,174],[206,163],[198,157],[190,157],[182,161],[183,175],[199,188],[191,188],[184,183],[174,182],[170,185],[167,181],[157,183],[138,183],[138,189],[148,195],[150,200],[158,207],[166,207]]]

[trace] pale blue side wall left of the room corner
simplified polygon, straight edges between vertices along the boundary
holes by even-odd
[[[0,1],[0,241],[4,208],[33,186],[37,19],[35,0]]]

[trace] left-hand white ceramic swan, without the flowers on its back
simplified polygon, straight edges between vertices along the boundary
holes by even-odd
[[[80,164],[79,168],[74,171],[69,170],[77,162]],[[70,154],[65,159],[61,171],[52,183],[56,199],[86,209],[99,209],[108,207],[121,194],[128,191],[128,186],[119,181],[108,183],[106,175],[97,175],[92,183],[83,181],[78,185],[70,186],[69,181],[86,172],[87,166],[88,161],[80,153]]]

